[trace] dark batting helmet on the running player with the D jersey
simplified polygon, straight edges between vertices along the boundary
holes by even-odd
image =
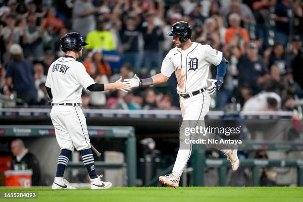
[[[192,38],[192,27],[189,23],[180,21],[176,22],[171,26],[171,32],[168,36],[179,36],[180,42],[185,43],[187,40]]]

